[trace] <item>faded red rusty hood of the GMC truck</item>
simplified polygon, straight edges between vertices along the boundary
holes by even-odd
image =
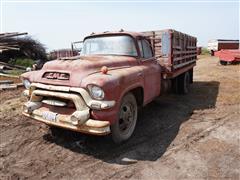
[[[75,59],[47,62],[41,70],[25,73],[22,76],[31,82],[80,87],[85,77],[99,73],[103,66],[107,66],[111,73],[111,70],[129,68],[136,63],[136,58],[126,56],[80,56]],[[69,74],[69,79],[48,79],[45,77],[48,72]]]

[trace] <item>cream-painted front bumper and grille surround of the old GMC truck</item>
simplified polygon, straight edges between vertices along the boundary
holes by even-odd
[[[73,93],[74,92],[74,93]],[[93,100],[82,88],[70,88],[44,84],[32,84],[30,90],[23,93],[30,99],[23,106],[23,114],[48,125],[59,126],[73,131],[106,135],[110,133],[108,121],[90,119],[90,109],[107,109],[115,105],[115,101]],[[70,114],[55,113],[44,108],[42,97],[56,97],[71,100],[76,111]],[[55,114],[54,118],[46,118],[45,113]]]

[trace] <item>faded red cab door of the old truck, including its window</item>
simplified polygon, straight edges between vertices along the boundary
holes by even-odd
[[[151,45],[146,39],[138,39],[140,67],[144,78],[144,102],[148,103],[160,94],[161,68],[157,63]]]

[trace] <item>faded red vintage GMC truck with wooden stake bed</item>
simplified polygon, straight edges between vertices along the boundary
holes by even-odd
[[[170,89],[189,91],[196,42],[172,29],[93,33],[80,56],[21,75],[28,97],[23,114],[51,127],[126,141],[140,107]]]

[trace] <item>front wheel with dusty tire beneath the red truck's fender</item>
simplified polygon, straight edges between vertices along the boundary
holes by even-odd
[[[132,136],[137,122],[137,114],[136,98],[132,93],[128,93],[122,99],[117,122],[111,125],[112,139],[115,143],[122,143]]]

